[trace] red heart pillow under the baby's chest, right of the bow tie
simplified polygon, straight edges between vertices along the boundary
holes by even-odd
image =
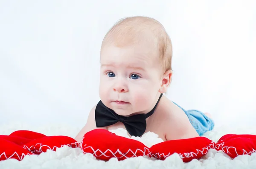
[[[183,162],[199,159],[207,154],[209,149],[214,149],[215,143],[205,137],[170,140],[151,146],[148,157],[164,160],[177,153]]]

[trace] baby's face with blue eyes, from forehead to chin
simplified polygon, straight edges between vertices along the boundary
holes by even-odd
[[[99,95],[117,114],[148,113],[160,84],[161,66],[153,46],[102,48]]]

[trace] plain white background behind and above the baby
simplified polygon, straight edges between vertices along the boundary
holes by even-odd
[[[216,125],[256,118],[256,1],[1,0],[0,123],[83,127],[99,101],[99,52],[119,19],[159,20],[173,44],[167,96]]]

